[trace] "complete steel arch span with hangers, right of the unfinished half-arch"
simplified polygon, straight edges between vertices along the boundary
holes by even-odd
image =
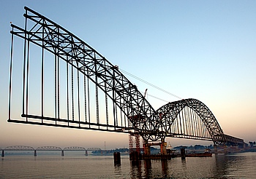
[[[196,99],[167,103],[157,110],[160,131],[166,137],[212,140],[225,143],[225,136],[210,109]]]

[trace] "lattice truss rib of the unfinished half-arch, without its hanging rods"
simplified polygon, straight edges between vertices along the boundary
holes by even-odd
[[[11,33],[59,56],[94,81],[97,87],[103,90],[126,116],[131,118],[135,131],[140,134],[142,131],[155,131],[157,127],[154,123],[157,119],[154,119],[154,108],[115,65],[52,20],[28,7],[25,9],[24,17],[34,22],[34,25],[30,29],[27,26],[23,29],[12,24]],[[143,116],[144,120],[135,120],[134,116]]]

